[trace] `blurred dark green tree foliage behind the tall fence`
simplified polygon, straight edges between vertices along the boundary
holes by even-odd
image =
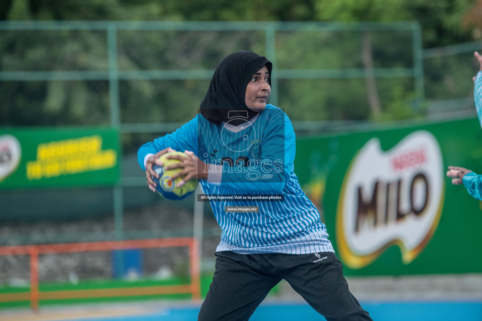
[[[422,26],[424,48],[430,48],[473,40],[477,26],[474,19],[467,18],[473,5],[471,0],[5,0],[0,1],[0,19],[415,20]],[[411,37],[410,32],[396,31],[365,35],[279,32],[277,66],[281,69],[412,67]],[[214,69],[226,54],[243,49],[266,54],[264,33],[118,33],[120,70]],[[108,69],[105,31],[0,31],[0,52],[2,71]],[[472,66],[460,61],[445,65],[443,59],[426,62],[429,70],[426,92],[430,99],[467,95],[470,82],[458,80]],[[447,70],[453,73],[447,76]],[[196,114],[208,83],[207,80],[122,80],[121,121],[186,121]],[[3,97],[0,125],[109,124],[107,81],[2,81],[0,93]],[[366,79],[279,82],[279,105],[294,120],[410,118],[420,115],[413,110],[414,96],[412,78],[376,78],[372,84]],[[380,108],[379,115],[375,115],[376,108]]]

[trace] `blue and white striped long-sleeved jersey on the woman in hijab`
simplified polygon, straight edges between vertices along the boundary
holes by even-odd
[[[316,207],[301,190],[294,172],[295,132],[284,112],[266,108],[237,127],[215,125],[201,114],[174,133],[139,148],[138,162],[145,169],[146,155],[167,147],[192,151],[210,164],[206,194],[283,194],[283,202],[211,201],[222,229],[216,251],[240,254],[308,254],[334,252]],[[225,206],[259,206],[258,213],[228,213]]]

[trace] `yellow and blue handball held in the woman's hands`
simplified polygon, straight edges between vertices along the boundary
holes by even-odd
[[[169,155],[181,155],[181,156],[187,157],[187,155],[182,152],[170,152],[170,153],[163,154],[161,157],[159,157],[159,159],[164,164],[164,166],[161,167],[154,164],[154,166],[152,167],[152,169],[159,174],[159,180],[156,179],[155,177],[152,177],[152,176],[151,177],[152,177],[152,180],[154,180],[154,182],[156,183],[157,193],[160,193],[162,196],[164,196],[169,200],[174,200],[174,201],[183,200],[189,197],[192,193],[194,193],[194,190],[198,186],[198,180],[197,179],[188,180],[186,184],[184,184],[183,186],[176,187],[177,183],[183,180],[185,176],[178,177],[172,181],[170,180],[171,177],[179,173],[182,170],[182,168],[173,168],[173,169],[165,170],[164,169],[165,167],[181,162],[177,159],[167,159],[166,157]]]

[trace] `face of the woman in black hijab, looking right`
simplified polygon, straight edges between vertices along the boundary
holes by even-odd
[[[268,67],[264,66],[255,72],[248,82],[244,96],[246,106],[254,111],[262,111],[266,107],[270,93]]]

